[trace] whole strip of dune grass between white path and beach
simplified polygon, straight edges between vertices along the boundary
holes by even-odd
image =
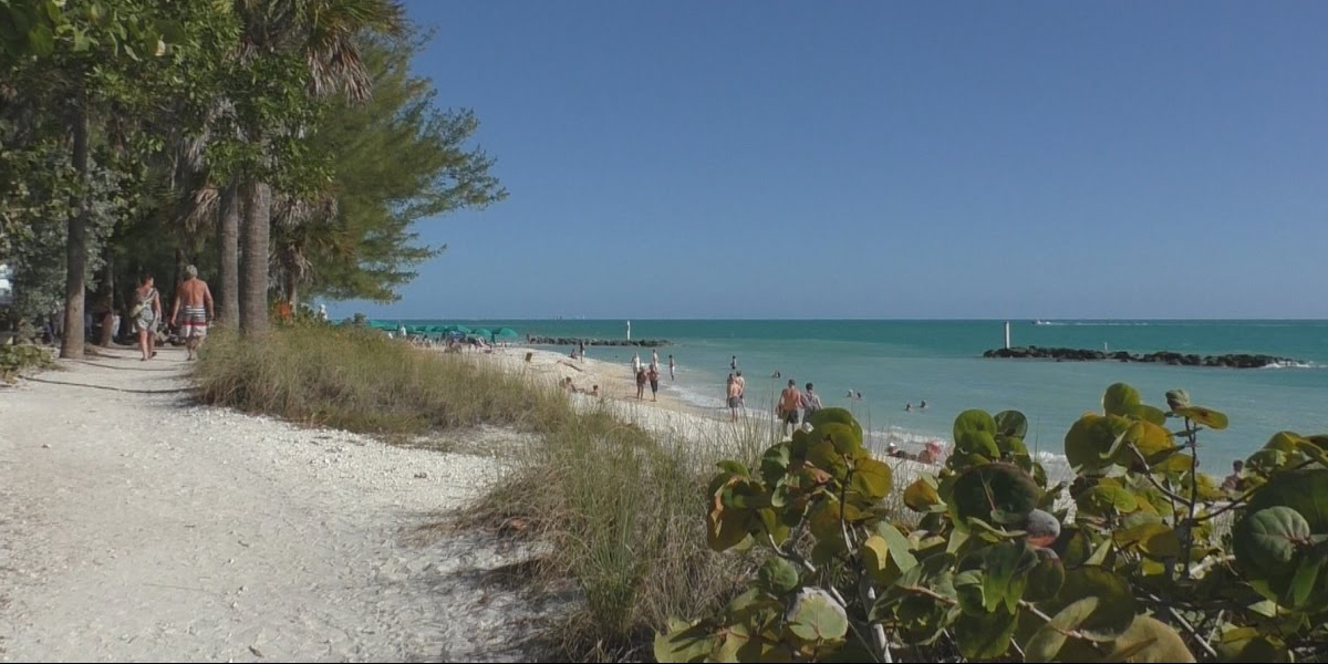
[[[575,590],[571,610],[535,635],[547,656],[648,660],[669,616],[714,610],[756,563],[706,548],[701,515],[714,461],[754,461],[769,428],[738,426],[697,449],[491,364],[327,327],[276,329],[263,343],[219,331],[195,382],[208,404],[356,432],[490,424],[539,434],[458,526],[534,538],[547,554],[529,580]],[[509,527],[518,521],[526,526]]]

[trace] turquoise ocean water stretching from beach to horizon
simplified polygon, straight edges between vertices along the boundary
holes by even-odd
[[[485,320],[463,323],[511,327],[521,335],[620,339],[623,320]],[[729,359],[748,377],[748,406],[773,402],[794,378],[811,381],[827,405],[853,409],[872,430],[948,441],[960,410],[1008,408],[1029,420],[1029,446],[1061,453],[1070,424],[1101,408],[1112,382],[1137,386],[1146,401],[1163,405],[1167,389],[1185,388],[1197,404],[1226,412],[1231,426],[1202,442],[1203,466],[1224,473],[1231,459],[1289,429],[1328,432],[1328,321],[1293,320],[1074,320],[1035,324],[1011,321],[1015,345],[1177,351],[1183,353],[1267,353],[1292,357],[1303,367],[1216,369],[1122,363],[988,360],[983,351],[1003,344],[1003,321],[993,320],[632,320],[633,339],[668,339],[661,364],[672,353],[680,367],[665,389],[704,408],[721,408]],[[563,351],[567,351],[566,348]],[[595,347],[590,357],[629,363],[635,348]],[[641,349],[648,361],[649,349]],[[770,376],[778,371],[782,378]],[[862,392],[861,401],[846,398]],[[756,398],[750,398],[756,397]],[[927,401],[926,412],[904,412]],[[753,404],[756,401],[756,404]],[[1203,450],[1201,450],[1203,452]]]

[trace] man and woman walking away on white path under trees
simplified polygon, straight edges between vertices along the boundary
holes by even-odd
[[[185,339],[185,348],[189,359],[198,353],[198,347],[207,337],[207,325],[214,319],[212,291],[207,282],[198,278],[198,268],[185,267],[185,280],[175,290],[175,304],[171,307],[170,321],[162,316],[162,299],[157,292],[155,280],[151,275],[138,278],[138,288],[134,290],[133,304],[129,307],[129,319],[138,333],[138,349],[142,351],[142,361],[157,356],[157,328],[162,324],[174,325],[179,329],[179,336]]]

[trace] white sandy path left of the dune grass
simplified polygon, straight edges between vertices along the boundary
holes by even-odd
[[[182,359],[0,388],[0,660],[522,656],[522,552],[417,530],[493,459],[190,405]]]

